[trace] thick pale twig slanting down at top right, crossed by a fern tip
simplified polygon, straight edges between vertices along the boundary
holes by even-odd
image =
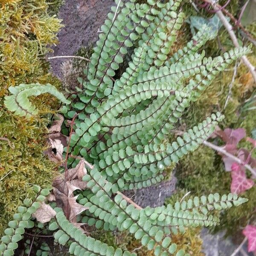
[[[215,2],[213,0],[204,0],[204,1],[207,2],[207,3],[210,3],[212,5],[213,9],[218,10],[218,6],[215,5]],[[238,40],[236,38],[236,34],[233,31],[233,27],[230,25],[230,23],[228,22],[228,20],[224,16],[224,14],[221,11],[217,11],[216,14],[218,15],[219,19],[223,23],[224,27],[227,29],[227,32],[229,33],[230,38],[233,41],[233,44],[235,45],[235,47],[239,47],[239,42],[238,42]],[[253,65],[250,63],[250,61],[247,59],[246,56],[242,56],[241,59],[244,62],[244,65],[247,66],[248,69],[250,70],[250,73],[253,76],[253,80],[256,83],[255,67],[253,67]]]

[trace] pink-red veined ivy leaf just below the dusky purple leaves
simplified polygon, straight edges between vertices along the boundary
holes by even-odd
[[[244,167],[237,166],[237,164],[233,164],[231,172],[232,183],[231,183],[231,192],[234,194],[240,194],[248,189],[250,189],[254,185],[254,181],[247,179]]]

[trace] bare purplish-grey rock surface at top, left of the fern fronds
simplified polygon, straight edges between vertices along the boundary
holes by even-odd
[[[98,38],[98,29],[104,23],[113,0],[66,0],[59,11],[64,28],[58,33],[59,44],[51,56],[73,55],[82,46]],[[67,59],[50,60],[52,71],[61,76],[61,63]]]

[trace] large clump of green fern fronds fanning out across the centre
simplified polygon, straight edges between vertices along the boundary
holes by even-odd
[[[184,18],[180,2],[117,0],[118,8],[112,8],[100,28],[85,77],[79,78],[82,88],[73,94],[72,103],[62,108],[67,127],[73,120],[69,146],[64,148],[67,165],[74,168],[81,157],[93,164],[83,177],[87,189],[78,192],[79,204],[87,207],[81,222],[105,230],[128,230],[156,256],[185,255],[172,243],[171,232],[216,225],[216,210],[247,201],[216,193],[174,206],[138,209],[120,193],[159,183],[166,166],[177,163],[212,134],[223,119],[221,113],[212,114],[172,143],[168,137],[184,110],[218,73],[250,52],[250,47],[241,47],[215,58],[205,57],[204,51],[198,50],[215,34],[204,26],[186,47],[170,56]],[[133,49],[131,61],[116,77],[128,48]],[[68,243],[71,254],[136,255],[82,234],[60,208],[55,211],[49,229],[58,230],[55,240]]]

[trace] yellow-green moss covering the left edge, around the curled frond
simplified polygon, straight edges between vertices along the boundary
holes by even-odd
[[[44,156],[45,134],[58,101],[32,99],[43,119],[19,118],[3,107],[8,87],[60,81],[49,74],[45,55],[56,44],[61,20],[49,15],[46,0],[0,0],[0,234],[23,199],[33,198],[32,184],[52,183],[54,164]],[[48,114],[48,115],[47,115]]]

